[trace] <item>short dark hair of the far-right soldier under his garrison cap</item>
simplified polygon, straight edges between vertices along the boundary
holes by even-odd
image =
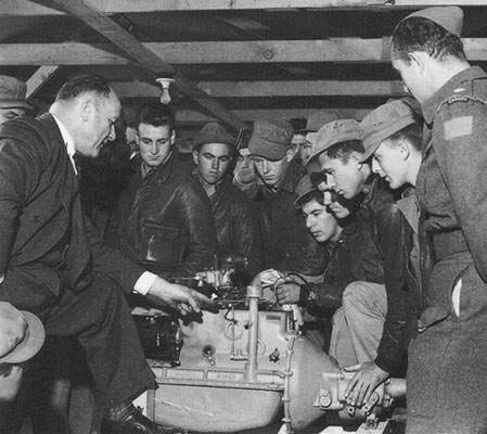
[[[407,64],[410,63],[408,54],[412,51],[424,51],[438,61],[446,58],[466,60],[462,40],[457,35],[422,16],[400,22],[393,33],[390,43],[394,55]]]

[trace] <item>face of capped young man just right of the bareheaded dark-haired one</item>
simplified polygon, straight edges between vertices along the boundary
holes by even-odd
[[[231,149],[226,143],[205,143],[193,152],[193,161],[203,180],[214,186],[227,174]]]

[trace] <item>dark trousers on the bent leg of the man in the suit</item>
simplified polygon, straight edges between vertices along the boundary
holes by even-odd
[[[82,292],[66,291],[44,327],[48,335],[77,337],[108,407],[154,385],[125,294],[107,276],[95,273]]]

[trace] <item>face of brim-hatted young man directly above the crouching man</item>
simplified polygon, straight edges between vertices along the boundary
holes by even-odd
[[[326,174],[328,188],[345,199],[354,199],[362,191],[364,175],[361,170],[360,155],[353,153],[347,161],[330,158],[326,152],[318,156],[321,171]]]

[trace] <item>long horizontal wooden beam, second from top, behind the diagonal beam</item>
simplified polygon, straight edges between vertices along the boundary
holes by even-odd
[[[140,43],[140,42],[139,42]],[[487,61],[487,38],[464,38],[470,61]],[[343,38],[333,40],[235,41],[235,42],[151,42],[140,43],[157,59],[177,64],[298,63],[298,62],[388,62],[384,39]],[[142,62],[142,59],[141,59]],[[162,62],[162,61],[161,61]],[[110,44],[0,43],[2,65],[126,65],[130,60],[113,52]],[[143,66],[146,64],[141,63]],[[157,73],[157,62],[150,64]],[[181,84],[185,84],[183,77]],[[185,84],[187,94],[197,91]]]

